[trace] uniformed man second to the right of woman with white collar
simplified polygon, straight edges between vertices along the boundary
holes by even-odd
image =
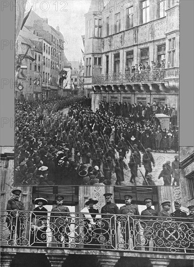
[[[129,233],[133,233],[133,246],[135,248],[135,236],[136,233],[138,233],[139,227],[138,224],[136,223],[136,219],[138,219],[140,213],[138,211],[137,206],[131,204],[132,201],[132,196],[131,195],[125,195],[124,196],[124,201],[125,205],[120,208],[120,214],[122,215],[133,215],[133,217],[123,217],[123,221],[121,223],[121,228],[122,228],[122,233],[123,233],[123,239],[125,242],[125,247],[126,249],[129,248]],[[137,215],[137,216],[135,216]]]

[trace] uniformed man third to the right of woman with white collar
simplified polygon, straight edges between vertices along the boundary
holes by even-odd
[[[145,250],[149,251],[149,242],[151,239],[155,239],[154,229],[153,229],[153,220],[156,220],[158,212],[152,209],[153,200],[151,198],[144,199],[146,209],[141,212],[141,220],[144,221],[141,225],[144,229],[143,235],[145,236]],[[154,240],[156,245],[156,240]]]

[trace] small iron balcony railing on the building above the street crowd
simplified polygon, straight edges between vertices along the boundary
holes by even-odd
[[[125,73],[101,74],[92,76],[92,84],[113,84],[113,83],[140,83],[140,82],[161,82],[164,80],[164,68],[155,70],[141,70]]]

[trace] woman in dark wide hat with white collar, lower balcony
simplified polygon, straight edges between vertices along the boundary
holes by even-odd
[[[96,224],[97,219],[100,219],[98,215],[98,209],[94,209],[93,205],[97,204],[97,199],[88,199],[85,201],[86,207],[81,210],[81,213],[84,213],[84,248],[98,248],[98,226]],[[99,229],[100,230],[100,229]],[[100,234],[100,232],[99,232]]]

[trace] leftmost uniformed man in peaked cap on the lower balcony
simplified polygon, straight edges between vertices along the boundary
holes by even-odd
[[[6,218],[7,227],[9,229],[9,245],[14,243],[13,235],[16,232],[18,235],[17,243],[21,245],[22,230],[21,225],[23,224],[23,213],[11,212],[11,211],[24,211],[24,203],[19,201],[21,190],[15,189],[12,191],[13,197],[7,201],[8,216]],[[16,229],[16,230],[15,230]]]

